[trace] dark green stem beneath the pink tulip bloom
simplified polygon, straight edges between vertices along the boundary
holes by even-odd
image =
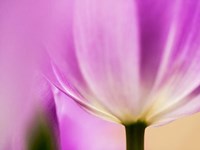
[[[147,124],[136,122],[125,125],[126,129],[126,150],[144,150],[144,133]]]

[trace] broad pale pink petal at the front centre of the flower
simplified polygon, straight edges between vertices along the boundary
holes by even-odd
[[[134,2],[77,1],[74,22],[78,62],[94,99],[119,118],[137,114],[139,39]]]

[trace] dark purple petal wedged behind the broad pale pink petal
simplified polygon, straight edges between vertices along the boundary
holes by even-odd
[[[177,1],[141,0],[137,2],[140,35],[140,75],[144,97],[156,80],[159,66],[166,55],[170,26],[173,24]],[[145,88],[144,87],[144,88]]]

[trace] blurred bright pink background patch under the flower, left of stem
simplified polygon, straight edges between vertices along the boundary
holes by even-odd
[[[84,112],[72,99],[60,92],[55,93],[55,101],[62,150],[124,149],[123,126],[105,122]]]

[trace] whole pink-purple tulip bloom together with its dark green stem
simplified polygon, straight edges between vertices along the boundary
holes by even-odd
[[[198,0],[63,0],[52,11],[50,82],[123,124],[127,150],[144,149],[147,126],[200,110]]]

